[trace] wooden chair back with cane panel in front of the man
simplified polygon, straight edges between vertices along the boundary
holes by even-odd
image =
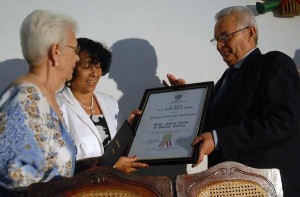
[[[176,177],[177,197],[283,196],[278,169],[255,169],[223,162],[195,174]]]

